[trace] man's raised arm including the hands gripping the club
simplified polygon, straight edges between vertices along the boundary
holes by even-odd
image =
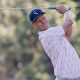
[[[57,11],[61,14],[64,14],[64,22],[62,23],[62,27],[65,31],[65,36],[68,40],[71,39],[72,34],[72,13],[70,10],[68,10],[69,7],[66,7],[64,5],[57,6]]]

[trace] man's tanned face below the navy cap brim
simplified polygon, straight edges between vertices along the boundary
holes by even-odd
[[[46,30],[49,27],[49,22],[45,14],[38,16],[36,22],[32,24],[35,26],[36,29],[41,31]]]

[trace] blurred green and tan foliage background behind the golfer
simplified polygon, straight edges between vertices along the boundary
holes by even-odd
[[[80,55],[80,0],[0,0],[0,80],[54,80],[54,70],[28,20],[34,7],[71,6],[74,18],[71,44]],[[8,8],[28,9],[8,9]],[[51,26],[63,21],[54,10],[43,9]]]

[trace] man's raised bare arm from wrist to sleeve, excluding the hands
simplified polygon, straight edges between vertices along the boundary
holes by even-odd
[[[64,22],[62,23],[62,27],[65,31],[65,36],[69,41],[71,40],[72,24],[72,13],[71,11],[67,11],[66,13],[64,13]]]

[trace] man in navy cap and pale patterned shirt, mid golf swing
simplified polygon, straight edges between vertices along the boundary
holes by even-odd
[[[56,11],[64,16],[64,21],[55,27],[50,27],[46,13],[41,9],[30,12],[30,22],[38,30],[39,40],[51,59],[55,80],[80,80],[80,59],[70,44],[72,13],[65,5],[56,6]]]

